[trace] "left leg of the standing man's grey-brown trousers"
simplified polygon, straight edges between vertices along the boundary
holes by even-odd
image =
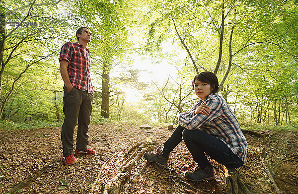
[[[66,86],[64,86],[63,112],[65,117],[61,129],[64,156],[69,156],[74,153],[74,127],[79,113],[80,102],[80,90],[73,87],[73,89],[68,92]]]

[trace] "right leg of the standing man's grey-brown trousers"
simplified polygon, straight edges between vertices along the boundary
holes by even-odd
[[[76,149],[83,151],[88,145],[88,130],[91,120],[93,95],[86,91],[82,92],[83,100],[78,114],[78,127],[76,135]]]

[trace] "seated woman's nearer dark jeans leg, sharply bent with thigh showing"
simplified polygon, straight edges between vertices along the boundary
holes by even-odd
[[[193,160],[202,167],[210,165],[204,152],[227,168],[237,168],[243,165],[242,160],[222,140],[205,131],[184,129],[182,137]]]

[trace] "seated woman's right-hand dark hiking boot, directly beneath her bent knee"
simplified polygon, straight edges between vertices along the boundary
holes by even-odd
[[[199,182],[203,180],[214,180],[213,168],[211,167],[196,167],[184,173],[186,179]]]

